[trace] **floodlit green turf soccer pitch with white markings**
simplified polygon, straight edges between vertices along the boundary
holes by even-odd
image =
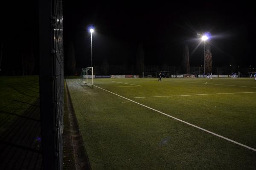
[[[93,170],[256,169],[254,79],[162,80],[66,79]]]

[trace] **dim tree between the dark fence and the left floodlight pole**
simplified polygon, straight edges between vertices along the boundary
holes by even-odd
[[[76,58],[75,58],[75,49],[74,44],[72,41],[70,41],[68,45],[68,51],[67,51],[67,70],[70,72],[70,74],[75,74],[76,69]]]

